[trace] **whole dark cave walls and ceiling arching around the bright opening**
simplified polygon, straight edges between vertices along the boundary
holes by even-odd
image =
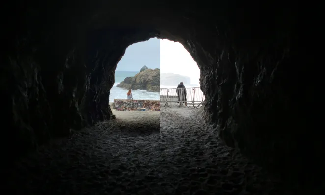
[[[129,45],[156,37],[181,43],[197,62],[214,139],[297,192],[324,184],[318,38],[298,3],[10,3],[1,57],[6,166],[71,130],[114,120],[117,63]]]

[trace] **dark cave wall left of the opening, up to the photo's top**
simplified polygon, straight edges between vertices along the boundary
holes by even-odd
[[[15,25],[5,28],[6,51],[1,58],[6,113],[1,122],[6,130],[0,148],[8,159],[67,136],[71,129],[115,118],[109,90],[117,63],[130,44],[157,35],[146,27],[89,27],[87,14],[82,18],[70,12],[71,2],[63,8],[60,2],[43,7],[20,3],[12,9]]]

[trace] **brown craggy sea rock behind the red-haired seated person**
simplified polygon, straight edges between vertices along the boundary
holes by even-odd
[[[147,68],[136,74],[134,77],[127,77],[117,87],[124,89],[142,89],[151,92],[159,92],[160,89],[160,69]]]

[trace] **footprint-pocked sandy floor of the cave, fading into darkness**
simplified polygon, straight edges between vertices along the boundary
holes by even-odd
[[[199,112],[114,111],[17,162],[4,184],[12,195],[298,194],[224,146]]]

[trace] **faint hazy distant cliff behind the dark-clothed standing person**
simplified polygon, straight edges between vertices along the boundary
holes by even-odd
[[[160,74],[160,84],[165,86],[177,86],[180,82],[184,85],[190,84],[190,77],[173,74],[173,73],[161,73]]]

